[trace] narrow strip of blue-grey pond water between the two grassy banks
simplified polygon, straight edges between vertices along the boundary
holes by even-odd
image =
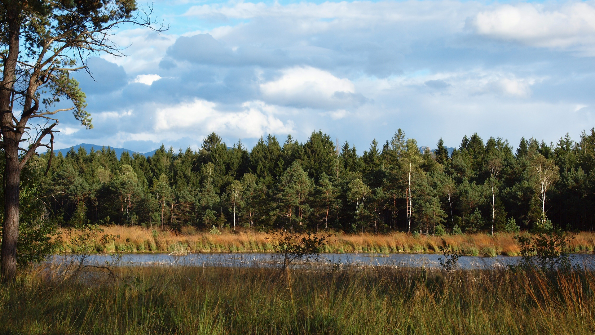
[[[54,256],[52,261],[60,262],[65,258],[73,256]],[[76,258],[77,256],[74,256]],[[79,256],[80,257],[80,256]],[[393,265],[404,267],[426,267],[439,268],[441,255],[421,254],[369,254],[369,253],[324,253],[315,261],[318,264],[327,265]],[[517,256],[461,256],[459,268],[462,269],[497,269],[505,268],[515,264],[521,259]],[[574,263],[584,265],[585,268],[595,269],[595,255],[574,254]],[[113,264],[113,265],[173,265],[173,266],[278,266],[281,263],[280,256],[270,253],[190,253],[188,255],[176,256],[167,253],[135,253],[123,254],[120,257],[109,255],[90,255],[84,259],[87,264]]]

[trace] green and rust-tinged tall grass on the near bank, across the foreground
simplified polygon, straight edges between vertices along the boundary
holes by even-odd
[[[0,287],[0,334],[593,334],[592,272],[402,268],[45,271]]]

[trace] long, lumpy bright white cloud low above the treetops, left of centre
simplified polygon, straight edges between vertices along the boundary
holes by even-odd
[[[239,111],[224,111],[215,103],[195,99],[177,106],[158,108],[154,128],[156,132],[174,132],[171,134],[174,137],[189,135],[189,131],[233,133],[237,137],[248,138],[292,132],[292,123],[284,124],[274,113],[275,108],[262,101],[246,102]]]

